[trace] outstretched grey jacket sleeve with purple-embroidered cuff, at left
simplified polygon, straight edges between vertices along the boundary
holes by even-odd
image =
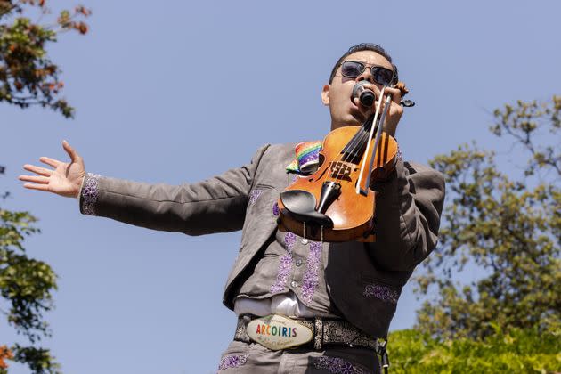
[[[80,212],[189,235],[240,230],[256,169],[267,148],[257,150],[249,164],[200,183],[171,186],[87,174]]]

